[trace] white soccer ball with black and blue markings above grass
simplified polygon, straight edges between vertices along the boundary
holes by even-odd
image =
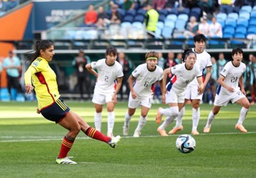
[[[189,153],[195,150],[195,139],[191,135],[179,135],[176,140],[179,152]]]

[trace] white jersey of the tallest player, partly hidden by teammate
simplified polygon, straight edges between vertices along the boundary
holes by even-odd
[[[192,51],[195,52],[195,48],[192,48]],[[196,52],[195,52],[196,53]],[[195,62],[197,66],[200,66],[201,71],[205,70],[205,68],[209,68],[212,66],[212,60],[209,53],[206,51],[203,51],[202,53],[196,53],[197,54],[197,61]],[[193,80],[189,85],[195,85],[198,86],[197,78]]]

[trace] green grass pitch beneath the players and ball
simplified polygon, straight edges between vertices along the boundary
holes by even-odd
[[[66,102],[94,127],[93,103]],[[132,118],[129,137],[122,137],[116,149],[79,133],[69,156],[78,164],[55,164],[61,139],[67,130],[36,114],[36,103],[0,103],[0,177],[255,177],[256,106],[244,122],[248,133],[235,130],[240,105],[227,105],[212,123],[210,134],[202,132],[212,105],[202,105],[195,151],[182,154],[175,147],[178,135],[192,128],[191,105],[186,106],[177,135],[161,137],[154,122],[158,107],[152,105],[142,137],[132,137],[140,109]],[[114,135],[122,136],[127,103],[115,108]],[[103,111],[102,132],[107,132]],[[174,126],[167,127],[167,131]]]

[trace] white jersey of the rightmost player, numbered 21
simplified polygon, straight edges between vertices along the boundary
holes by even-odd
[[[238,86],[239,79],[246,70],[245,63],[240,63],[240,66],[235,67],[232,61],[226,63],[220,75],[225,77],[224,83],[228,86],[235,89],[235,91],[239,91],[240,87]],[[230,91],[221,85],[217,88],[217,95],[227,95],[230,94]]]

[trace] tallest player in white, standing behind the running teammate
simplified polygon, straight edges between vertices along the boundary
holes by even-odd
[[[192,51],[197,54],[196,64],[200,66],[200,69],[202,71],[206,69],[203,90],[205,90],[205,86],[210,80],[212,70],[211,56],[205,51],[205,41],[206,38],[203,34],[197,34],[196,36],[194,36],[195,48],[192,48]],[[197,88],[198,83],[195,79],[191,83],[189,83],[189,85],[187,85],[187,88],[185,90],[184,106],[189,100],[192,100],[192,135],[199,135],[199,132],[197,131],[197,125],[200,120],[200,101],[202,100],[202,94],[199,94],[197,92]],[[177,116],[175,127],[169,131],[169,134],[174,134],[179,130],[183,130],[182,117],[185,110],[184,106],[182,107],[182,110],[180,110],[179,115]]]

